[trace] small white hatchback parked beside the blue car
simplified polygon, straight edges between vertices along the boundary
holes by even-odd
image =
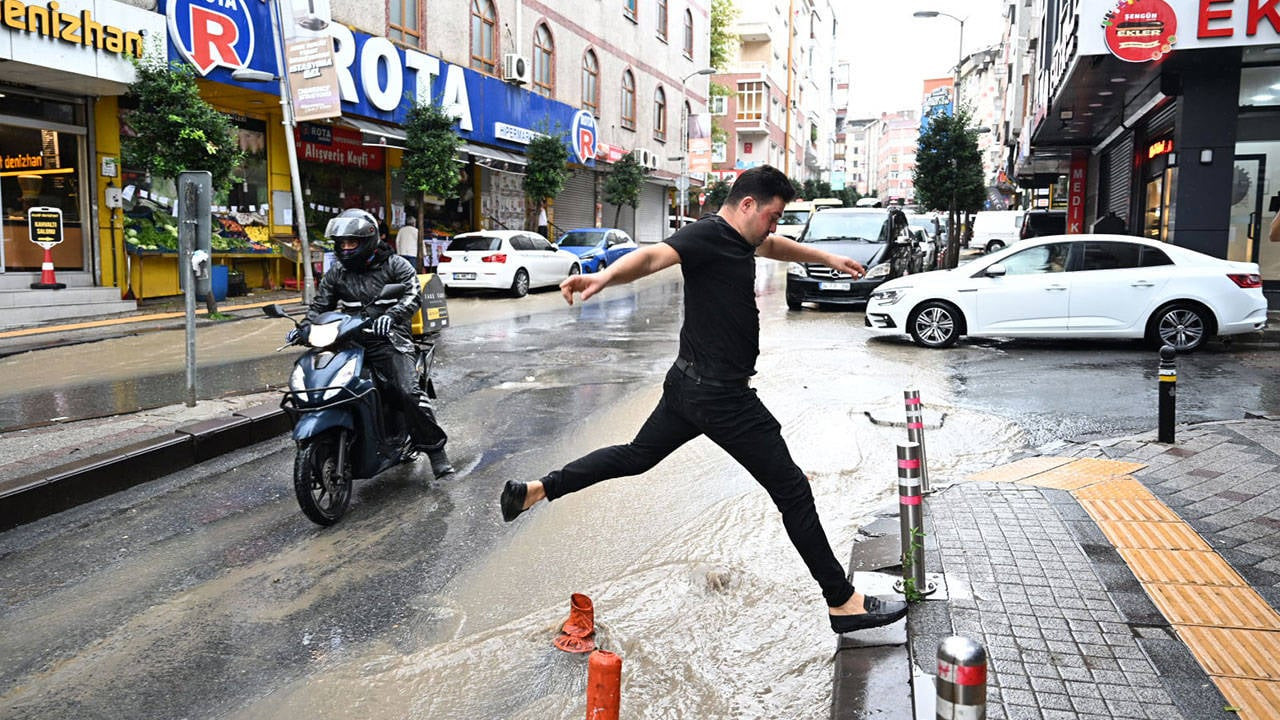
[[[529,288],[559,284],[582,272],[577,255],[525,231],[480,231],[453,236],[436,268],[445,291]]]

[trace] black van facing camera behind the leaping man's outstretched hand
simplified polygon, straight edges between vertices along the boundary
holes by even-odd
[[[787,307],[804,302],[865,305],[873,290],[887,279],[919,272],[906,215],[897,208],[835,208],[814,213],[799,242],[852,258],[867,268],[854,279],[820,263],[791,263],[787,266]]]

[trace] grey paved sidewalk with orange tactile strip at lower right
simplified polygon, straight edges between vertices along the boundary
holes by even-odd
[[[899,692],[870,707],[851,669],[902,638],[849,635],[832,717],[911,717],[913,674],[914,716],[933,717],[951,634],[986,647],[991,720],[1280,717],[1277,430],[1248,419],[1178,428],[1176,445],[1059,443],[934,479],[925,568],[938,589],[905,623],[910,665],[882,673]],[[896,509],[869,530],[855,568],[899,542]]]

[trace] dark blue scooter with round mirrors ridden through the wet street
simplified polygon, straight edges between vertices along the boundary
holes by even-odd
[[[378,300],[398,297],[403,286],[383,287]],[[333,525],[351,503],[353,478],[374,475],[417,459],[408,424],[399,407],[381,400],[372,372],[365,365],[361,333],[371,332],[369,309],[355,314],[329,311],[303,325],[279,305],[268,305],[270,318],[293,320],[294,333],[278,350],[305,346],[289,375],[280,409],[293,424],[297,455],[293,491],[302,512],[320,525]],[[419,387],[435,397],[431,365],[435,345],[415,340],[413,364]]]

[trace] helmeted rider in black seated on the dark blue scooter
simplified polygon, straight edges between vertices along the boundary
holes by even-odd
[[[431,402],[415,377],[410,322],[421,304],[417,274],[408,260],[381,242],[378,219],[365,210],[343,210],[329,220],[324,234],[333,241],[338,263],[320,278],[307,320],[315,322],[332,310],[352,311],[374,302],[370,310],[372,332],[361,340],[365,363],[388,402],[403,409],[410,437],[417,450],[426,452],[431,473],[436,478],[453,473],[444,452],[448,436],[436,423]],[[383,287],[393,283],[402,284],[404,293],[375,302]]]

